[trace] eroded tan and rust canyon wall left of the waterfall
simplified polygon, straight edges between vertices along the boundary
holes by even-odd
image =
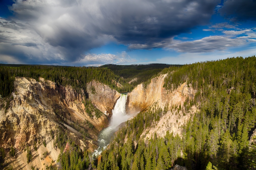
[[[36,166],[45,169],[46,165],[55,164],[60,153],[55,143],[59,129],[68,132],[68,138],[81,149],[93,151],[97,147],[97,135],[108,125],[108,117],[101,114],[97,118],[86,113],[86,94],[82,89],[57,86],[42,78],[38,82],[16,77],[14,85],[12,99],[0,100],[0,146],[5,148],[6,153],[14,146],[15,157],[7,156],[7,162],[13,167],[30,169]],[[88,90],[89,99],[103,113],[111,113],[120,94],[95,81],[88,83],[88,87],[92,85],[95,93]],[[112,97],[111,101],[109,96]],[[93,125],[93,128],[89,125]],[[33,148],[35,143],[37,149],[32,149],[33,161],[27,164],[24,149],[27,145]],[[46,151],[49,155],[42,160],[42,154]]]

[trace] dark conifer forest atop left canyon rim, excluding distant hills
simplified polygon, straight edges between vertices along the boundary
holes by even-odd
[[[2,97],[10,95],[13,90],[15,76],[34,78],[39,77],[56,82],[57,85],[71,85],[86,91],[86,83],[96,80],[118,91],[123,89],[116,86],[115,81],[124,83],[110,69],[98,67],[66,67],[40,65],[7,65],[0,66],[0,94]],[[129,87],[128,87],[129,88]]]

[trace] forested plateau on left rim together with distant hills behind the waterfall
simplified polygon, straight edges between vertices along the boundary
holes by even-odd
[[[169,67],[166,64],[150,65],[104,65],[101,67],[68,67],[46,65],[0,64],[0,95],[7,97],[13,90],[16,76],[36,80],[42,77],[56,82],[57,85],[71,85],[86,91],[86,83],[96,80],[119,91],[131,91],[138,84],[150,80],[153,75]],[[128,83],[133,77],[138,80]],[[121,84],[118,85],[118,84]]]

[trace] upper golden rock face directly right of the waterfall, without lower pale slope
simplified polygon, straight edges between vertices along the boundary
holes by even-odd
[[[132,92],[128,93],[126,112],[128,114],[137,113],[154,103],[157,103],[162,109],[165,105],[169,105],[170,109],[172,105],[184,102],[186,97],[194,97],[194,90],[186,83],[173,92],[163,88],[166,76],[167,74],[153,78],[146,88],[143,87],[143,84],[139,84]]]

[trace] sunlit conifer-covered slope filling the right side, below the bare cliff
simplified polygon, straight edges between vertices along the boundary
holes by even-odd
[[[181,135],[166,132],[144,141],[140,136],[159,121],[166,110],[140,112],[117,133],[102,152],[98,169],[169,169],[175,164],[188,169],[255,169],[256,57],[228,58],[169,67],[164,87],[174,90],[187,82],[197,93],[181,106],[198,108]],[[210,168],[210,169],[211,169]]]

